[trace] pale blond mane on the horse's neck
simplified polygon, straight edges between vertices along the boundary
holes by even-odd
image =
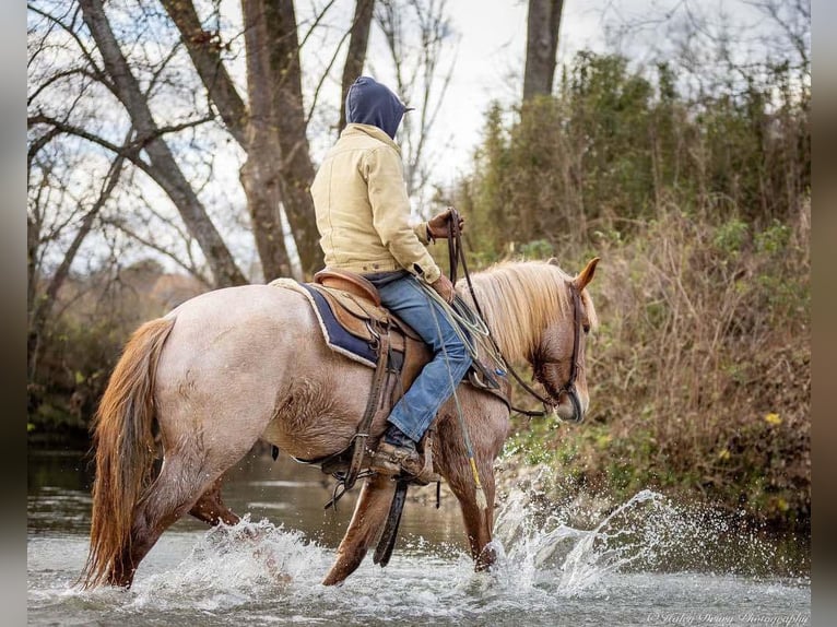
[[[512,362],[531,360],[541,331],[561,319],[573,319],[566,283],[574,276],[552,263],[507,261],[471,279],[485,321],[504,356]],[[468,293],[464,287],[461,291]],[[587,291],[581,299],[594,329],[598,318]]]

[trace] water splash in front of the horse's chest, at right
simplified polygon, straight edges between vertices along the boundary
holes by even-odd
[[[509,495],[495,523],[498,579],[574,596],[606,593],[602,582],[614,572],[805,573],[804,565],[786,563],[774,542],[746,528],[743,512],[675,505],[645,489],[580,529],[570,521],[590,512],[579,507],[578,500],[551,502],[538,490]]]

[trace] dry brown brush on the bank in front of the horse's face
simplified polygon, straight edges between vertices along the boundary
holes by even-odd
[[[552,466],[562,489],[624,499],[656,487],[809,525],[804,223],[756,230],[672,213],[599,253],[588,422],[518,418],[508,451]]]

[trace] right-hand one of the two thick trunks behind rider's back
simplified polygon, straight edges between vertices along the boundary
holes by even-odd
[[[292,0],[263,0],[270,37],[270,66],[279,80],[267,85],[272,99],[272,120],[278,130],[282,161],[279,177],[282,203],[294,234],[299,262],[306,275],[322,268],[322,251],[314,216],[309,186],[314,165],[308,152],[307,120],[303,106],[299,38]]]

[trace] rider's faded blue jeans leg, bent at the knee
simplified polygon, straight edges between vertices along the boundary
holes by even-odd
[[[403,273],[394,280],[391,273],[365,276],[378,287],[384,306],[410,324],[433,352],[433,359],[425,364],[388,418],[417,442],[453,393],[451,380],[458,385],[468,371],[471,355],[441,306],[424,293],[412,274]]]

